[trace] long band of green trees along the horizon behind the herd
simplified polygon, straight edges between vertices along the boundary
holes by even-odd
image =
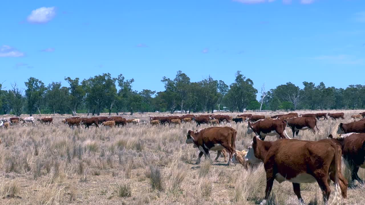
[[[182,71],[174,79],[162,77],[165,90],[155,92],[149,89],[133,90],[134,79],[126,80],[122,74],[112,77],[110,73],[97,75],[80,81],[79,78],[65,77],[68,86],[52,82],[46,86],[41,80],[30,77],[24,82],[25,88],[14,83],[6,90],[0,84],[0,114],[66,114],[87,113],[100,115],[101,112],[211,112],[227,110],[283,109],[364,109],[365,86],[349,85],[347,88],[326,87],[323,82],[303,82],[304,88],[291,82],[274,89],[261,91],[253,87],[253,81],[241,71],[235,80],[227,85],[211,76],[199,82],[191,82]],[[257,94],[261,100],[257,101]]]

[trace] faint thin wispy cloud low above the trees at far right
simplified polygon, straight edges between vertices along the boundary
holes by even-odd
[[[319,55],[311,59],[323,61],[332,64],[363,64],[364,59],[357,58],[353,55]]]

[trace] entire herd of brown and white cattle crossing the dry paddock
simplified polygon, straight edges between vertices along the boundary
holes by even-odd
[[[299,131],[310,130],[314,134],[319,132],[317,121],[345,119],[344,113],[316,113],[301,114],[288,113],[275,116],[263,115],[184,115],[184,116],[161,116],[149,117],[150,125],[161,126],[165,124],[180,125],[181,123],[196,123],[196,127],[201,124],[219,125],[226,123],[226,127],[208,127],[200,130],[189,130],[185,143],[193,144],[197,148],[199,156],[197,164],[200,163],[201,156],[210,158],[209,151],[217,151],[217,160],[223,154],[226,161],[229,154],[228,163],[231,162],[243,165],[247,170],[252,170],[258,164],[263,163],[266,171],[266,190],[264,200],[261,205],[267,203],[272,190],[274,180],[279,183],[284,181],[292,182],[293,190],[298,200],[304,203],[300,193],[300,183],[317,182],[322,189],[323,200],[328,201],[331,193],[330,181],[335,184],[334,199],[332,204],[346,204],[348,182],[342,175],[341,156],[348,169],[351,171],[351,180],[363,183],[358,176],[359,168],[365,169],[365,112],[359,115],[352,115],[354,119],[350,123],[339,123],[337,128],[338,137],[329,135],[327,139],[319,141],[305,141],[293,139]],[[356,121],[357,119],[360,119]],[[34,120],[33,117],[12,117],[0,118],[0,126],[8,129],[11,124],[36,121],[53,125],[51,117]],[[148,121],[147,121],[148,122]],[[231,127],[231,123],[247,122],[247,134],[253,133],[252,142],[247,150],[236,150],[235,142],[237,131]],[[120,116],[115,117],[91,117],[80,118],[71,117],[62,120],[62,123],[69,127],[81,125],[99,127],[122,127],[132,123],[134,125],[146,123],[139,119],[125,119]],[[288,136],[285,128],[292,130],[292,138]],[[265,141],[266,136],[277,136],[276,141]],[[300,156],[300,157],[296,157]]]

